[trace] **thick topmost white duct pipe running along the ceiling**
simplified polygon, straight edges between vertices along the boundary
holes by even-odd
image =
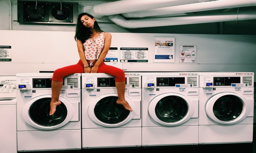
[[[120,0],[115,2],[94,5],[90,9],[90,14],[96,19],[104,15],[121,14],[134,11],[142,11],[153,8],[161,8],[175,5],[216,1],[216,0]]]

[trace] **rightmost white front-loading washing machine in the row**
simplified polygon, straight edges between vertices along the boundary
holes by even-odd
[[[199,144],[253,140],[253,72],[199,73]]]

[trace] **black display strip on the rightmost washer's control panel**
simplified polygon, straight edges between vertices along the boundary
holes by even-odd
[[[213,77],[214,86],[231,86],[231,83],[240,83],[240,77]]]

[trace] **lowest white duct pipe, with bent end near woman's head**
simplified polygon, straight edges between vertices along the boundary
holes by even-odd
[[[182,24],[210,23],[235,20],[250,20],[256,19],[256,10],[237,12],[223,12],[207,15],[181,16],[181,17],[166,17],[153,19],[137,19],[126,20],[120,15],[110,15],[109,19],[123,28],[146,28],[146,27],[161,27],[174,26]]]

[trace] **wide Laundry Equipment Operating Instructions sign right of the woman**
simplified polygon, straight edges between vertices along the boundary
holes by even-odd
[[[120,62],[148,62],[148,48],[120,48]]]

